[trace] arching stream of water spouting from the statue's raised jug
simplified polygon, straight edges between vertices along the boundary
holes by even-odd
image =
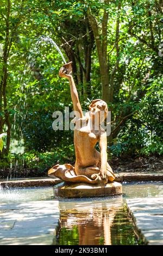
[[[24,120],[29,119],[27,97],[29,96],[29,94],[32,94],[32,96],[34,96],[33,92],[31,91],[30,82],[33,75],[33,71],[36,69],[37,66],[36,59],[41,53],[42,48],[45,48],[48,44],[58,51],[63,62],[66,64],[66,60],[60,48],[49,36],[40,36],[36,39],[35,43],[30,47],[28,56],[26,58],[26,65],[24,66],[24,70],[22,72],[21,77],[18,77],[18,83],[20,84],[20,86],[15,92],[17,96],[17,104],[14,107],[14,122],[12,124],[11,129],[11,148],[14,148],[14,153],[24,152],[23,130],[26,130],[26,127],[24,127]],[[20,125],[17,126],[16,124]],[[15,139],[12,140],[12,137],[17,138],[17,141]],[[11,160],[8,179],[16,178],[16,171],[18,168],[19,170],[24,169],[24,160],[19,163],[16,161],[14,159]],[[24,177],[26,177],[25,172]]]

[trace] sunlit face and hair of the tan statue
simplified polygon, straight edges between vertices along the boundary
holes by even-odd
[[[90,117],[95,120],[103,121],[106,117],[105,113],[106,103],[104,101],[97,101],[90,106]]]

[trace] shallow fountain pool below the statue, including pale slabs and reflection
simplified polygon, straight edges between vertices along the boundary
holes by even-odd
[[[162,182],[124,182],[123,198],[57,199],[52,186],[0,186],[0,244],[162,245],[162,188]],[[58,200],[61,229],[56,238],[59,210],[53,208]]]

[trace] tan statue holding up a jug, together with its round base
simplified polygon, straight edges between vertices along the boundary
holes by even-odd
[[[54,196],[58,197],[97,197],[122,194],[122,185],[115,182],[115,175],[107,162],[106,132],[101,126],[108,114],[108,106],[103,100],[93,100],[90,112],[84,116],[78,92],[72,76],[72,62],[64,64],[59,76],[70,82],[73,109],[76,117],[73,123],[76,163],[57,164],[48,171],[65,181],[54,187]],[[101,153],[95,149],[99,142]],[[68,182],[68,183],[67,183]]]

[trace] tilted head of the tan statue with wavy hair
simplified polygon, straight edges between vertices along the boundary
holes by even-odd
[[[93,100],[89,106],[90,117],[97,118],[102,123],[108,115],[108,105],[103,100]]]

